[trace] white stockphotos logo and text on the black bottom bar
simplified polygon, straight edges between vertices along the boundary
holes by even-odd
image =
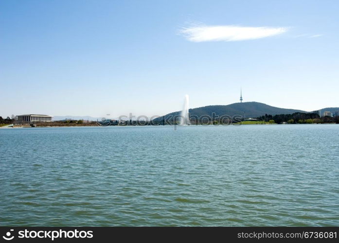
[[[17,235],[15,235],[14,229],[10,229],[2,236],[6,241],[11,241],[13,239],[48,239],[54,241],[54,239],[85,239],[93,238],[92,230],[19,230]]]

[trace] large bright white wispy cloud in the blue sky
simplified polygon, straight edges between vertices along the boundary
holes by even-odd
[[[180,34],[193,42],[203,41],[240,41],[265,38],[285,33],[285,27],[245,27],[237,25],[195,25],[183,27]]]

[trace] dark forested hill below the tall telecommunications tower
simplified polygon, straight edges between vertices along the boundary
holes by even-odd
[[[285,108],[279,108],[270,106],[268,104],[263,104],[259,102],[244,102],[244,103],[234,103],[234,104],[228,104],[228,105],[208,105],[198,108],[189,109],[190,116],[198,116],[201,117],[203,115],[208,115],[212,117],[212,113],[215,113],[217,116],[222,115],[240,115],[244,116],[244,112],[246,112],[247,118],[254,118],[254,117],[260,117],[265,114],[269,115],[277,115],[277,114],[292,114],[295,112],[307,112],[303,110],[295,110],[295,109],[285,109]],[[167,115],[166,117],[173,115],[179,115],[180,111],[172,112]],[[164,119],[164,117],[160,117],[155,119],[155,121],[161,121]]]

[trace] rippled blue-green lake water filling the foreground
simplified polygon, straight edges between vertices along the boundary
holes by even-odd
[[[339,226],[339,125],[0,129],[1,226]]]

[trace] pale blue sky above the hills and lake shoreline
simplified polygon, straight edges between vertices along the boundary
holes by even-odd
[[[0,116],[339,106],[336,0],[2,0]],[[265,28],[261,28],[265,27]]]

